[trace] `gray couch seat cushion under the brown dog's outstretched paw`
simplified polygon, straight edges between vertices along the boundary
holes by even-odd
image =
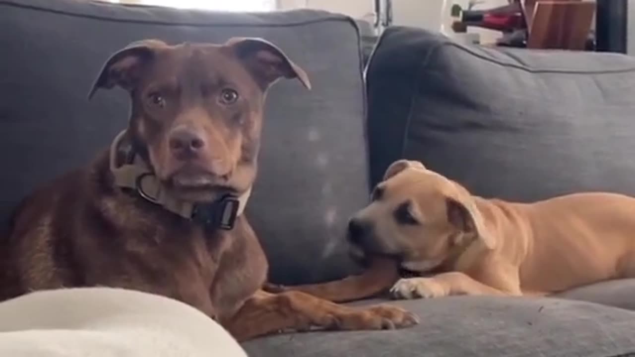
[[[417,313],[420,325],[380,332],[278,335],[246,342],[243,347],[250,357],[635,354],[635,312],[617,307],[504,297],[448,297],[397,304]]]

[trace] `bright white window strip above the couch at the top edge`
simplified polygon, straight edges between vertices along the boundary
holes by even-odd
[[[276,0],[110,0],[113,3],[144,4],[219,11],[272,11]]]

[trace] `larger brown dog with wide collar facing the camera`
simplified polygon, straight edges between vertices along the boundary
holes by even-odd
[[[84,170],[30,196],[5,242],[3,299],[115,286],[182,300],[239,340],[284,329],[406,327],[403,309],[352,309],[260,290],[267,261],[243,212],[267,88],[309,79],[262,39],[132,43],[91,90],[130,92],[128,129]]]

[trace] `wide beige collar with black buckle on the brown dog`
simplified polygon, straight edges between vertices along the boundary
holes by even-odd
[[[152,169],[138,154],[131,149],[123,151],[125,137],[126,131],[121,131],[110,145],[110,172],[117,187],[135,191],[147,201],[203,226],[226,230],[234,227],[236,218],[243,214],[247,205],[251,187],[238,197],[227,194],[210,203],[176,199],[168,194]],[[126,156],[123,165],[117,163],[120,152],[124,152]]]

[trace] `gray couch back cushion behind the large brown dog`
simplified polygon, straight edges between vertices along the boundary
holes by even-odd
[[[269,93],[247,213],[269,255],[272,280],[330,280],[352,267],[341,233],[366,202],[368,168],[359,35],[350,18],[3,0],[0,33],[0,227],[27,192],[84,165],[125,127],[123,90],[86,100],[110,53],[145,38],[259,36],[286,51],[313,84],[306,91],[297,81],[280,81]]]

